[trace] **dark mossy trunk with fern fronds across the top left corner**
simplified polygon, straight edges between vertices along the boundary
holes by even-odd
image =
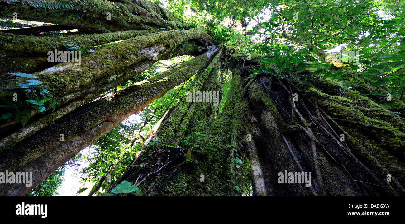
[[[29,0],[0,1],[0,17],[57,23],[73,27],[91,27],[103,32],[122,30],[157,30],[158,28],[185,28],[181,21],[156,3],[145,0],[107,2],[102,0],[58,0],[58,9],[49,9],[44,0],[29,4]],[[44,5],[44,7],[39,6]],[[68,4],[68,5],[67,5]],[[62,6],[63,5],[63,6]],[[107,19],[107,13],[111,16]]]

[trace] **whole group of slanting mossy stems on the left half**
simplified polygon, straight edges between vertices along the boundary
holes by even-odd
[[[47,4],[45,2],[40,1],[38,4]],[[90,24],[96,23],[89,21],[88,17],[96,15],[101,17],[107,12],[111,13],[111,21],[96,18],[100,22],[98,27],[100,32],[113,31],[109,33],[78,32],[78,35],[59,38],[0,32],[2,105],[13,107],[14,93],[17,93],[20,102],[35,98],[32,93],[16,88],[18,86],[11,80],[15,76],[9,74],[12,72],[38,76],[46,89],[51,92],[51,97],[55,99],[55,112],[52,112],[51,101],[45,103],[47,110],[43,113],[38,113],[38,109],[30,110],[28,103],[16,108],[19,112],[28,110],[25,119],[29,118],[29,121],[25,127],[19,123],[20,119],[11,119],[10,122],[2,120],[0,124],[1,169],[8,169],[10,172],[19,170],[34,172],[33,187],[122,120],[141,111],[154,99],[162,97],[168,90],[188,80],[196,71],[204,70],[212,55],[218,50],[211,46],[211,37],[203,29],[197,27],[180,30],[183,27],[179,26],[181,25],[179,20],[165,12],[158,4],[147,1],[114,5],[102,0],[84,1],[80,6],[73,4],[73,8],[66,6],[66,9],[51,10],[40,8],[38,5],[32,6],[27,1],[0,4],[2,17],[13,17],[13,12],[18,12],[19,19],[38,21],[38,18],[45,18],[41,21],[64,25],[66,15],[77,16],[75,13],[85,10],[88,13],[83,14],[83,18],[70,19],[72,21],[70,26],[81,28],[95,29]],[[98,10],[95,10],[96,6],[99,7]],[[109,8],[103,9],[104,6]],[[131,14],[139,11],[142,12],[141,15]],[[132,23],[142,29],[135,29],[128,24],[117,26],[117,21],[124,24],[126,19],[114,13],[131,14]],[[111,29],[112,27],[114,29]],[[15,33],[18,33],[18,29]],[[67,43],[74,44],[81,50],[95,51],[85,53],[79,64],[47,61],[48,51],[69,50],[69,46],[64,46]],[[147,70],[156,61],[179,55],[196,57],[166,72],[135,83],[112,96],[111,101],[100,99],[90,102],[98,95],[126,83],[130,78]],[[5,112],[15,113],[14,109],[6,109]],[[64,141],[60,140],[61,134],[64,135]],[[2,188],[2,194],[21,195],[29,192],[32,187],[8,185]]]

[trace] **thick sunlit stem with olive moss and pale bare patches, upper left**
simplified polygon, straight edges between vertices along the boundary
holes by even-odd
[[[182,42],[205,37],[202,29],[168,31],[130,38],[111,44],[89,55],[83,55],[81,63],[62,62],[47,70],[36,72],[40,80],[55,97],[79,89],[89,83],[104,83],[114,77],[114,73],[145,59],[168,50],[175,50]],[[170,58],[169,56],[166,56]],[[12,76],[3,76],[8,79]],[[4,89],[12,87],[12,82],[2,84]],[[4,91],[2,91],[4,92]],[[58,101],[58,104],[64,102]]]

